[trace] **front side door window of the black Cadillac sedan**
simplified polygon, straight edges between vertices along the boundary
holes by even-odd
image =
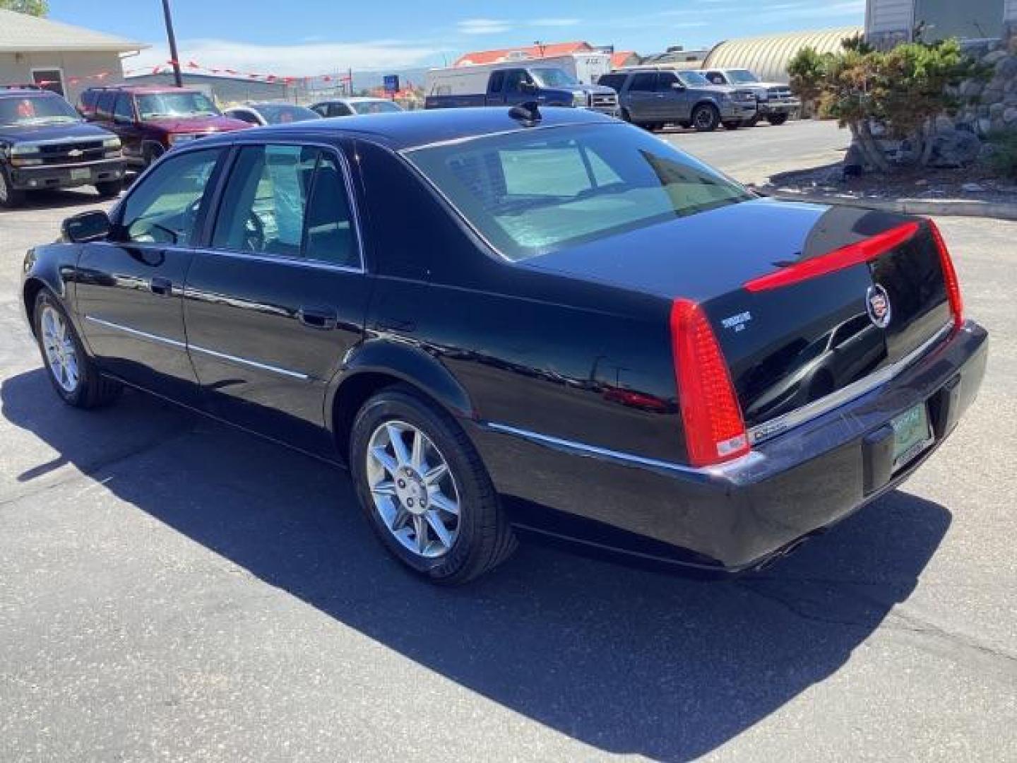
[[[221,149],[168,156],[124,202],[119,238],[146,244],[189,246]]]

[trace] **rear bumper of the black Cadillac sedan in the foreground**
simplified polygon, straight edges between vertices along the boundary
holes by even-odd
[[[739,572],[781,554],[910,476],[973,402],[986,358],[988,334],[967,322],[882,387],[712,469],[496,424],[473,434],[517,526],[607,551]],[[935,444],[892,473],[889,422],[922,401]]]

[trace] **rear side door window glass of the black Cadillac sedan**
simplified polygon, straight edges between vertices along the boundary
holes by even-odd
[[[213,235],[218,249],[359,265],[343,171],[328,152],[246,146],[223,198]]]

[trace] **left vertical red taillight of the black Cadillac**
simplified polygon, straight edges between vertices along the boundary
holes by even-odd
[[[749,435],[727,361],[696,302],[674,300],[671,348],[690,463],[710,466],[747,453]]]

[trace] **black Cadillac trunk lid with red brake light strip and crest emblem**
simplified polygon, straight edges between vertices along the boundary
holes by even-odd
[[[869,210],[760,199],[528,265],[698,302],[745,425],[766,435],[779,427],[762,424],[857,388],[951,321],[930,224]],[[820,273],[793,277],[802,270]]]

